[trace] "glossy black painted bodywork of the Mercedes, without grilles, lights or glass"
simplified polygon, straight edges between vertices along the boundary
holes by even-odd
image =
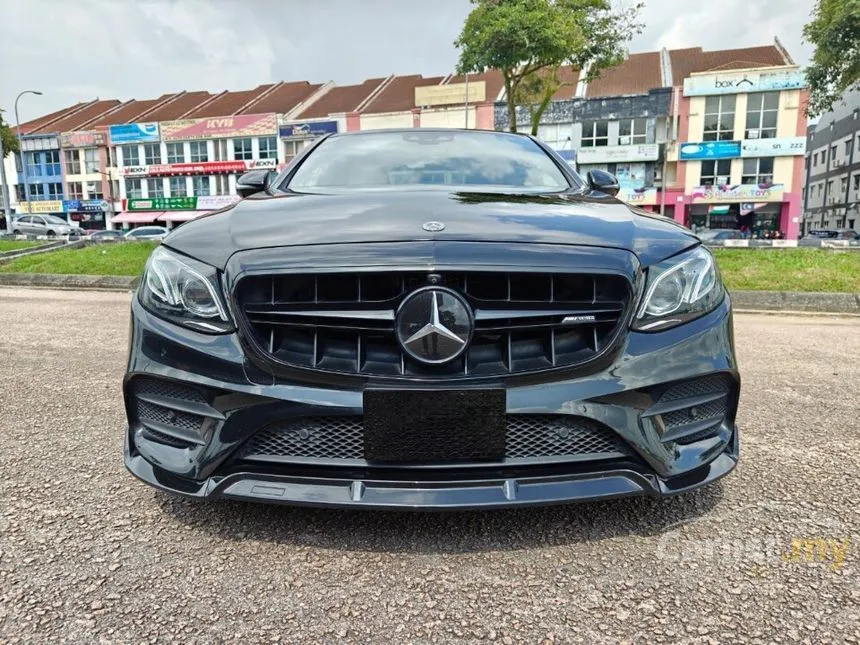
[[[563,160],[548,154],[566,168]],[[300,163],[301,158],[282,173],[273,184],[278,189],[188,222],[164,240],[164,246],[223,272],[223,293],[231,308],[233,287],[248,273],[374,266],[444,270],[464,266],[464,258],[470,268],[517,270],[564,266],[574,256],[581,263],[577,266],[591,270],[608,270],[609,262],[639,294],[648,266],[699,244],[674,222],[584,187],[567,169],[571,190],[554,195],[440,190],[307,195],[284,189]],[[444,222],[445,229],[424,231],[421,225],[430,220]],[[638,297],[634,309],[637,304]],[[459,508],[679,492],[727,474],[738,456],[737,391],[718,435],[706,441],[661,443],[639,418],[654,403],[654,393],[668,383],[726,374],[739,386],[728,297],[714,311],[680,327],[659,333],[627,330],[587,373],[547,371],[480,383],[506,388],[508,413],[574,410],[605,423],[642,459],[611,470],[555,466],[523,471],[465,464],[446,470],[448,481],[445,473],[419,467],[408,477],[410,490],[403,489],[403,469],[395,469],[396,477],[384,469],[336,470],[322,476],[299,467],[237,470],[230,464],[231,454],[267,420],[332,411],[360,415],[362,410],[362,378],[272,370],[271,365],[261,367],[258,359],[241,329],[226,335],[184,329],[134,299],[126,394],[131,380],[142,374],[196,383],[219,393],[212,406],[234,422],[225,422],[226,430],[215,431],[205,446],[180,451],[136,436],[129,408],[125,460],[131,472],[151,485],[192,497]],[[413,385],[428,386],[420,381]],[[465,486],[464,479],[471,483]],[[268,498],[254,493],[261,482],[282,493]],[[358,484],[364,493],[355,497]],[[510,497],[509,486],[524,492]],[[501,497],[499,490],[505,491]]]

